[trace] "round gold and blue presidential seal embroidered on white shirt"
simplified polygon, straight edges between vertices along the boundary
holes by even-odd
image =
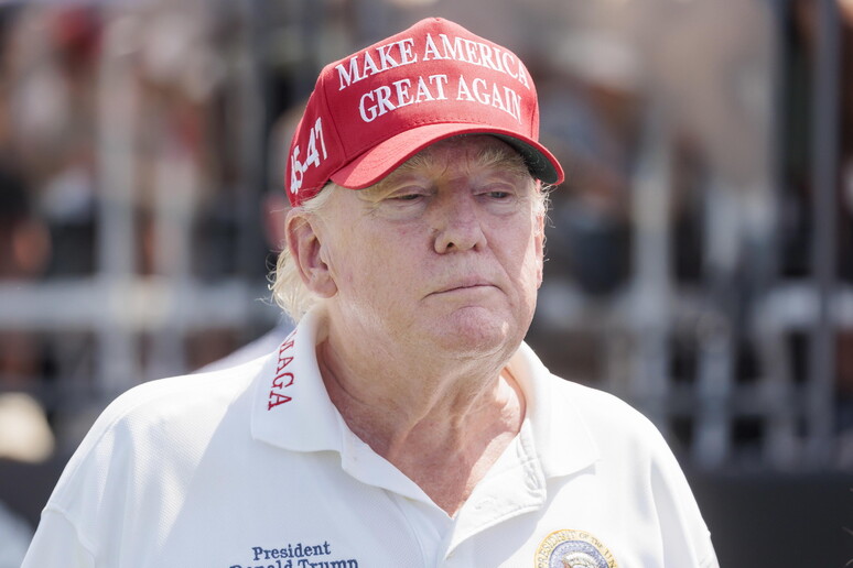
[[[618,568],[604,543],[584,531],[554,531],[539,545],[536,568]]]

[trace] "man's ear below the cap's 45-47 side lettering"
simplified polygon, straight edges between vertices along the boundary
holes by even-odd
[[[323,260],[323,242],[317,231],[320,220],[300,209],[291,209],[284,220],[290,256],[305,286],[320,297],[337,293],[328,264]]]

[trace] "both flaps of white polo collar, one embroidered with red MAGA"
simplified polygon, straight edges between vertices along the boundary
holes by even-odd
[[[252,436],[293,451],[333,450],[355,441],[328,397],[316,359],[318,312],[306,314],[270,354],[255,385]],[[525,394],[531,444],[546,478],[577,472],[598,459],[598,449],[576,402],[560,396],[558,381],[527,343],[507,365]],[[360,440],[356,440],[360,441]]]

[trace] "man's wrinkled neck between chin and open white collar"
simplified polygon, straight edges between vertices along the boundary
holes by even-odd
[[[321,374],[347,426],[453,515],[518,434],[525,398],[507,372],[348,364],[326,340]],[[376,368],[371,368],[376,367]]]

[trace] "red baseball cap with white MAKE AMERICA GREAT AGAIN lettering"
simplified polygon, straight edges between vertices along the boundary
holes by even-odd
[[[369,187],[411,156],[457,134],[493,134],[548,184],[563,181],[538,142],[539,102],[515,54],[441,18],[326,65],[290,146],[293,206],[328,181]]]

